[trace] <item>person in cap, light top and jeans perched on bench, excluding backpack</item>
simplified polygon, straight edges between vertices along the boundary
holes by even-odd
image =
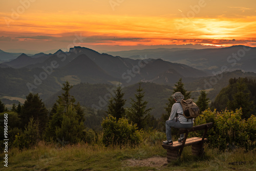
[[[193,127],[193,118],[187,119],[183,116],[183,110],[180,104],[181,99],[184,99],[184,96],[181,92],[176,92],[172,95],[175,100],[175,103],[172,106],[172,111],[170,112],[169,119],[165,122],[165,129],[166,129],[166,141],[163,141],[163,144],[173,145],[172,140],[172,129],[171,127],[175,127],[177,129],[187,129]],[[178,142],[182,142],[184,139],[184,134],[180,135]]]

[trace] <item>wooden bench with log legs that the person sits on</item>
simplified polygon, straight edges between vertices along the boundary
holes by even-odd
[[[185,134],[183,142],[175,141],[173,142],[173,145],[162,144],[162,147],[167,151],[167,162],[179,159],[184,146],[188,146],[188,145],[192,146],[192,153],[194,155],[198,155],[198,156],[202,155],[204,153],[203,143],[207,141],[205,136],[207,131],[211,129],[211,127],[212,127],[212,122],[193,126],[190,129],[180,129],[179,135]],[[199,137],[187,138],[189,132],[200,131],[200,130],[204,130],[204,134],[202,138],[199,138]]]

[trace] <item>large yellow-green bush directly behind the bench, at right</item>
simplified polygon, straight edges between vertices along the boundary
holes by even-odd
[[[248,120],[241,119],[242,109],[233,111],[213,112],[205,110],[195,120],[195,125],[213,122],[214,126],[207,132],[209,145],[219,149],[255,147],[256,118],[251,116]],[[193,136],[202,136],[203,131],[193,132]]]

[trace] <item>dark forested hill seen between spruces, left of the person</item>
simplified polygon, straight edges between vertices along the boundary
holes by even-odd
[[[167,99],[173,94],[173,87],[150,82],[142,82],[141,87],[145,93],[144,100],[148,101],[148,108],[153,108],[151,115],[159,118],[165,113],[164,108],[168,102]],[[126,107],[130,106],[130,98],[135,98],[136,89],[138,88],[138,83],[123,88],[124,99],[127,100],[125,103]],[[116,86],[110,84],[79,83],[70,90],[70,94],[83,106],[88,106],[96,110],[107,110],[109,98],[112,95],[114,96],[115,90]],[[61,91],[51,96],[45,101],[46,106],[48,108],[53,106],[60,95]]]

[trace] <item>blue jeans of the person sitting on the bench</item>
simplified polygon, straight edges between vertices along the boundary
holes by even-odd
[[[177,129],[187,129],[190,127],[193,127],[193,123],[188,123],[188,124],[182,124],[180,123],[180,121],[177,120],[176,122],[176,118],[174,120],[166,120],[165,121],[165,130],[166,130],[166,138],[168,141],[172,140],[172,127],[175,127]],[[180,138],[183,138],[184,134],[180,135]]]

